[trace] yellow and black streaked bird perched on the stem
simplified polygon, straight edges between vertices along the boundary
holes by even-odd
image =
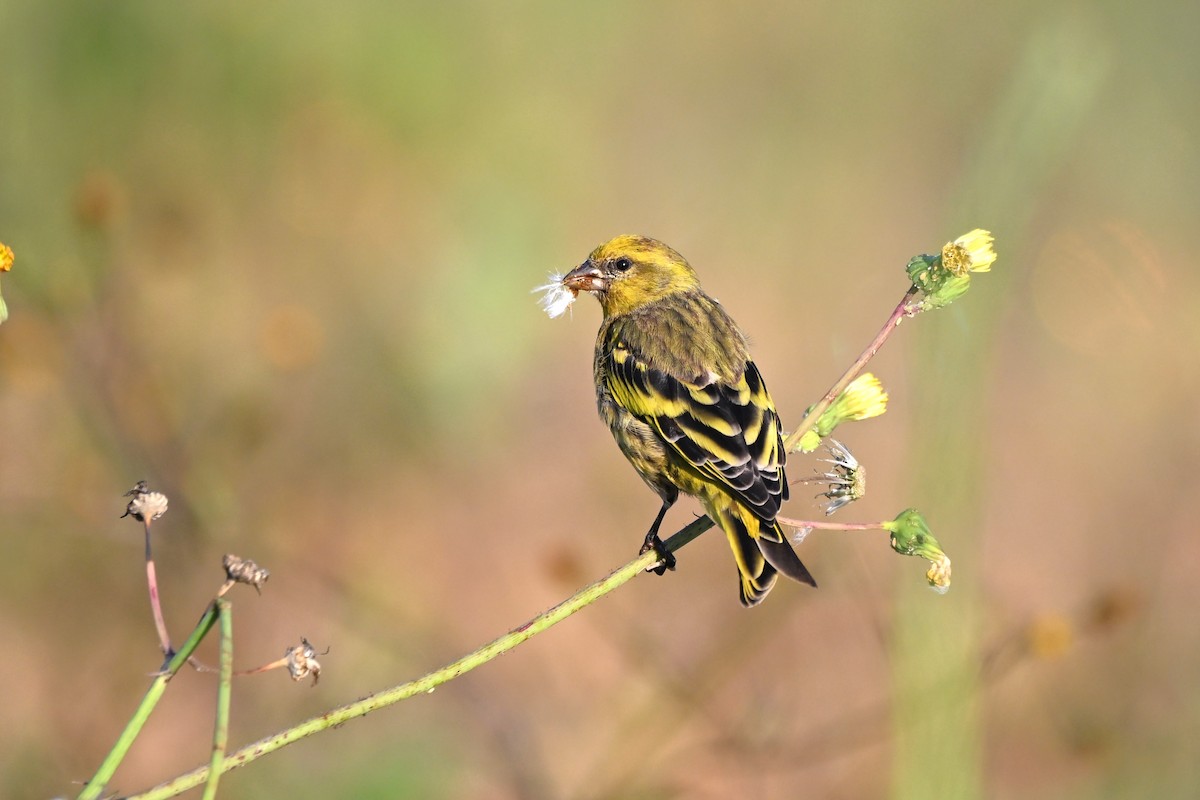
[[[745,607],[778,576],[816,587],[776,521],[787,500],[779,414],[746,337],[696,271],[667,245],[617,236],[562,277],[600,302],[596,407],[622,453],[662,501],[642,553],[674,557],[659,527],[679,494],[695,497],[725,531]]]

